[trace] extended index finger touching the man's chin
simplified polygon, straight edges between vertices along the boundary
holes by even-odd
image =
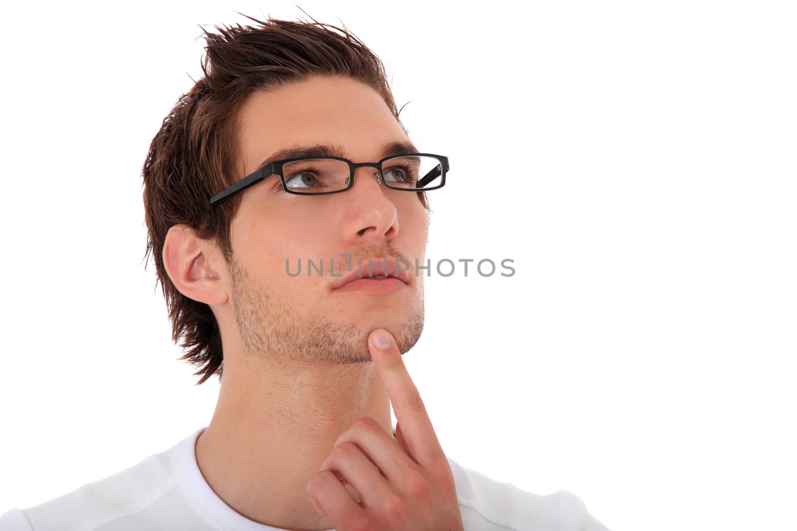
[[[383,339],[387,339],[387,346],[383,346]],[[368,336],[368,348],[391,398],[410,457],[421,466],[446,459],[421,394],[406,370],[393,335],[383,328],[373,330]]]

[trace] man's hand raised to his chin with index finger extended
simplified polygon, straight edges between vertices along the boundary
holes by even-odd
[[[379,348],[382,335],[387,346]],[[393,404],[398,441],[370,416],[356,420],[310,478],[313,506],[336,531],[463,531],[451,467],[393,336],[373,330],[368,348]]]

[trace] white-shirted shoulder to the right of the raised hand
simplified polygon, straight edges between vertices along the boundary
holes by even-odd
[[[608,531],[567,490],[533,494],[448,458],[465,530]]]

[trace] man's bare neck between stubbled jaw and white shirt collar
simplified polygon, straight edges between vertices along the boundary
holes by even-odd
[[[308,481],[360,417],[393,432],[390,399],[373,362],[228,361],[213,418],[195,449],[206,482],[249,520],[332,529],[309,501]]]

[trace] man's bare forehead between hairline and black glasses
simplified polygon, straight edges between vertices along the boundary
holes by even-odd
[[[378,92],[338,76],[254,92],[241,107],[238,124],[245,174],[285,146],[336,143],[358,162],[370,161],[387,140],[406,139]]]

